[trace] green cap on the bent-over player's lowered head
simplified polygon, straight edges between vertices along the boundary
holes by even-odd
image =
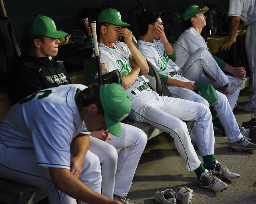
[[[120,121],[130,114],[132,108],[126,90],[117,83],[105,84],[100,87],[100,102],[108,131],[115,136],[121,136]]]

